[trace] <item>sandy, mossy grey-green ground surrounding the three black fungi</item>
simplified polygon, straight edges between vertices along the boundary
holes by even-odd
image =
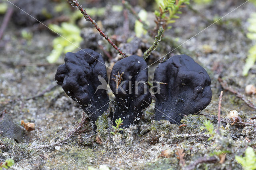
[[[229,3],[217,0],[206,6],[194,4],[193,8],[200,11],[202,16],[212,19],[217,15],[224,16],[241,3],[239,0]],[[106,8],[114,4],[114,1],[111,1]],[[63,138],[73,130],[81,120],[82,109],[63,93],[61,87],[54,88],[42,97],[25,100],[43,91],[49,85],[55,84],[54,75],[58,65],[63,63],[64,55],[60,57],[58,63],[48,64],[46,56],[50,54],[51,42],[56,36],[48,30],[35,31],[31,40],[25,40],[20,36],[22,28],[10,21],[9,28],[0,41],[0,111],[6,109],[14,122],[19,125],[21,120],[35,123],[36,130],[26,134],[28,143],[16,143],[12,139],[0,136],[0,162],[13,158],[16,162],[14,169],[84,169],[88,166],[99,167],[101,164],[106,164],[113,169],[181,169],[200,157],[216,155],[219,159],[221,150],[227,154],[223,163],[219,161],[203,163],[197,168],[241,169],[242,167],[234,161],[235,155],[242,155],[247,146],[251,146],[255,151],[256,128],[222,123],[221,133],[223,135],[207,141],[210,135],[200,127],[203,126],[205,120],[210,120],[214,128],[217,127],[218,96],[222,90],[217,81],[219,75],[241,93],[244,93],[246,85],[256,85],[255,65],[248,77],[242,76],[246,54],[252,46],[252,42],[246,38],[246,28],[247,19],[253,11],[256,11],[256,8],[252,4],[249,2],[244,4],[226,16],[223,19],[224,23],[214,24],[186,42],[182,48],[168,54],[168,57],[179,54],[180,51],[193,54],[191,57],[206,68],[212,79],[212,102],[200,115],[184,117],[182,123],[186,124],[186,127],[172,125],[167,121],[154,121],[152,118],[154,109],[148,107],[139,125],[125,129],[122,135],[114,136],[110,134],[113,129],[102,128],[97,136],[93,134],[90,125],[86,125],[88,130],[63,142],[59,145],[60,148],[38,150],[30,148],[39,144],[49,144],[58,138]],[[107,11],[106,15],[98,17],[97,21],[102,21],[108,35],[122,36],[123,19],[120,16],[122,12]],[[181,18],[173,24],[173,28],[165,32],[166,39],[160,42],[158,53],[165,55],[175,48],[168,38],[181,44],[209,26],[211,23],[202,16],[184,9]],[[115,22],[113,22],[113,17],[117,18]],[[129,17],[131,17],[131,30],[128,36],[133,38],[132,16]],[[0,16],[1,23],[2,20],[3,16]],[[98,33],[93,31],[90,24],[83,24],[82,20],[79,24],[85,27],[82,30],[85,37],[81,48],[90,45],[92,46],[90,48],[97,48],[97,43],[94,44],[94,42],[100,41],[113,55],[116,54],[105,40],[98,38]],[[90,44],[89,40],[93,42]],[[142,40],[150,41],[146,37]],[[126,45],[126,50],[132,51],[131,53],[140,53],[141,50],[136,49],[136,47],[141,47],[138,45],[140,43],[130,45],[121,43],[120,46]],[[104,55],[103,51],[97,50]],[[111,65],[107,62],[105,55],[104,58],[107,65]],[[148,64],[152,61],[154,57],[149,58]],[[149,67],[149,80],[153,79],[155,67],[156,65]],[[109,95],[110,98],[113,97],[111,92]],[[256,103],[255,96],[248,96],[248,98]],[[154,106],[154,101],[152,106]],[[255,119],[250,119],[255,116],[255,110],[232,93],[224,91],[221,117],[226,117],[230,110],[238,111],[245,121],[256,123]],[[106,124],[109,121],[104,122]],[[100,142],[95,141],[97,137],[100,138]],[[182,166],[175,154],[180,148],[183,148],[185,153],[185,164]],[[170,158],[158,157],[162,150],[167,149],[172,151]]]

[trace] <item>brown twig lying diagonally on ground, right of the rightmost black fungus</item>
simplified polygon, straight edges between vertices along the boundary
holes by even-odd
[[[227,91],[230,91],[231,93],[236,95],[236,97],[242,99],[246,103],[246,105],[248,105],[249,107],[251,107],[253,109],[256,109],[256,106],[252,103],[252,101],[247,99],[243,94],[241,94],[238,91],[234,90],[232,87],[228,86],[227,82],[222,80],[222,78],[219,77],[218,81],[220,82],[220,85],[222,86],[223,89],[225,89]]]

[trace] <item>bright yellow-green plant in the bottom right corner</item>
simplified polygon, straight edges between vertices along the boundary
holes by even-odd
[[[245,170],[256,170],[256,155],[251,147],[245,150],[244,157],[236,156],[236,161],[244,166]]]

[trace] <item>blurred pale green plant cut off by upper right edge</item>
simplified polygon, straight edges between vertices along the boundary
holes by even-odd
[[[248,27],[249,33],[247,37],[250,40],[256,40],[256,13],[252,13],[251,17],[248,19],[250,26]],[[252,46],[247,55],[246,63],[244,65],[243,75],[248,75],[248,71],[254,65],[256,61],[256,44]]]

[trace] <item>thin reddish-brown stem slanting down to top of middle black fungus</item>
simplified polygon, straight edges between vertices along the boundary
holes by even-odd
[[[82,8],[81,5],[79,5],[79,2],[77,0],[68,0],[68,2],[75,7],[76,9],[80,10],[81,13],[84,15],[84,18],[86,19],[86,21],[89,21],[95,28],[96,30],[98,30],[98,32],[100,32],[100,35],[102,37],[104,37],[108,43],[110,43],[117,51],[120,55],[122,55],[123,57],[128,57],[128,55],[126,53],[124,53],[121,49],[119,49],[116,44],[114,44],[109,38],[108,36],[106,36],[106,34],[99,28],[99,26],[97,25],[97,23],[90,17],[90,15],[87,14],[86,10],[84,8]]]

